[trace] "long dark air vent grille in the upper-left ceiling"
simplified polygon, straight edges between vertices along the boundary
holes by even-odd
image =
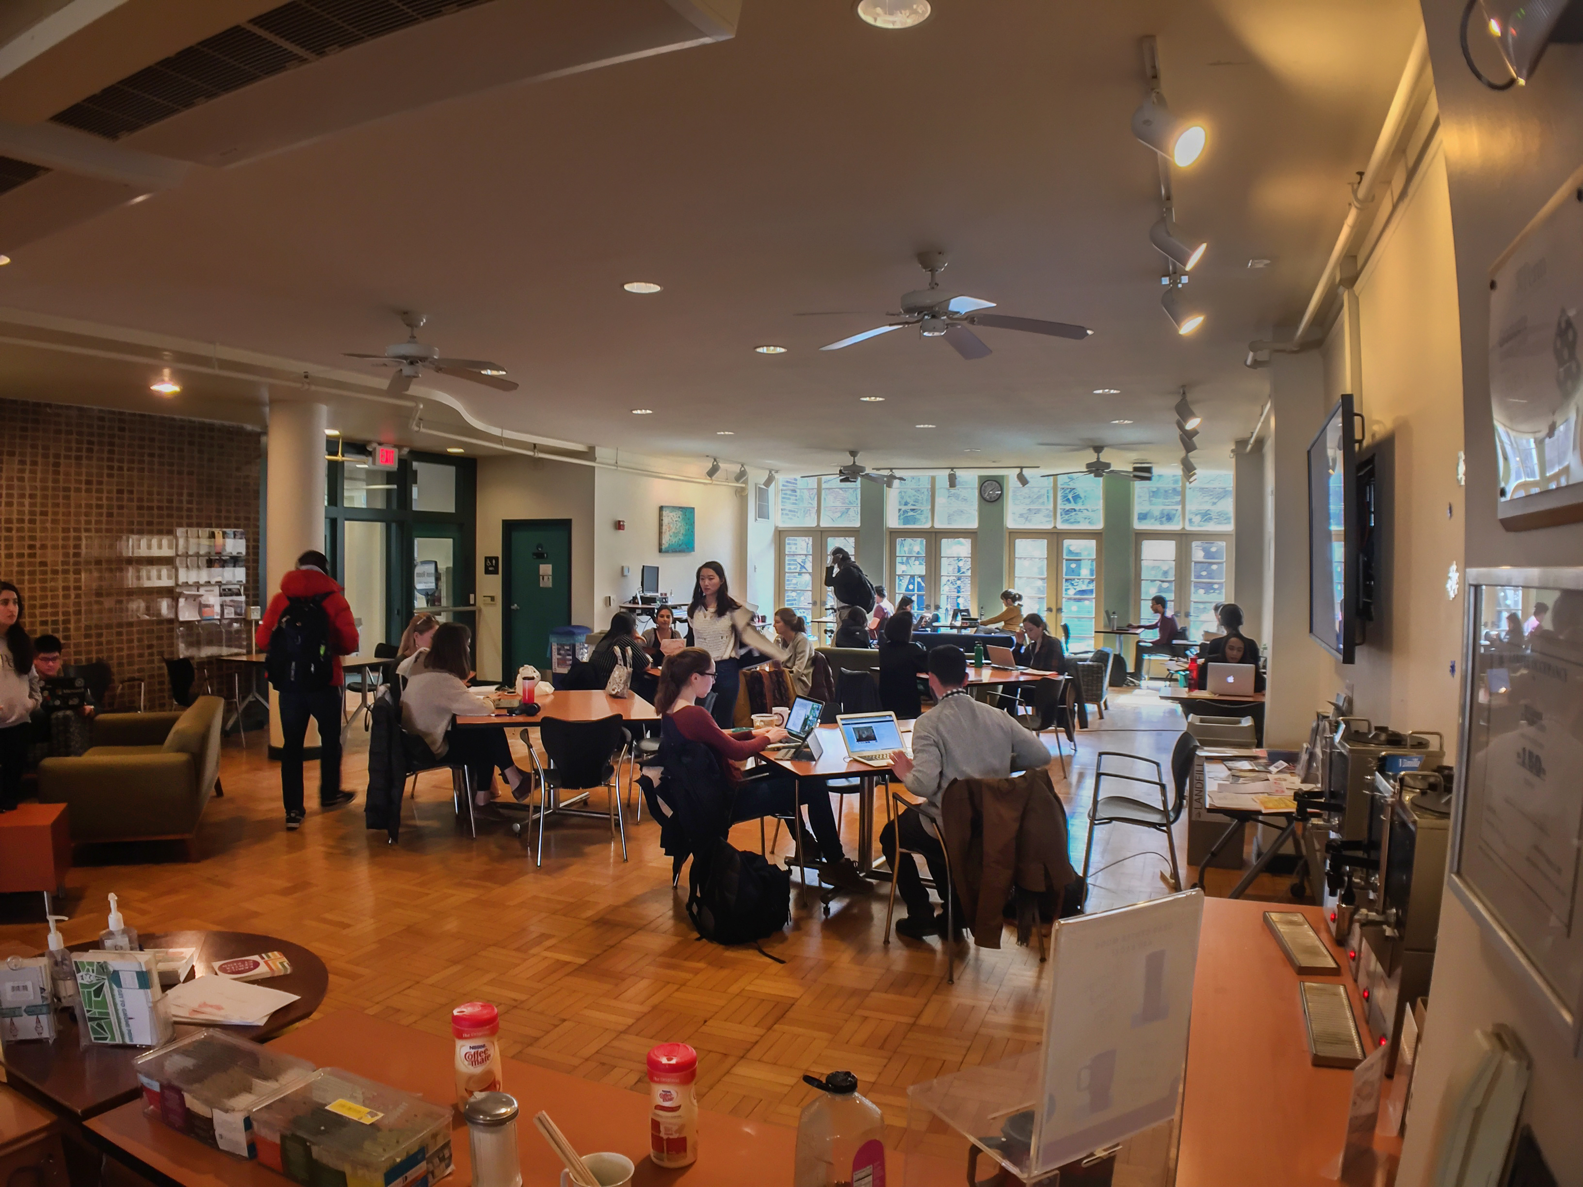
[[[128,74],[51,119],[116,139],[291,66],[481,3],[489,0],[293,0]],[[9,173],[0,168],[0,187],[22,184],[8,182]]]

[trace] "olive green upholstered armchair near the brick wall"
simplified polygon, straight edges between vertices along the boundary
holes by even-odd
[[[225,701],[199,696],[185,712],[104,714],[78,758],[38,764],[38,802],[68,804],[73,844],[193,840],[204,804],[220,791]]]

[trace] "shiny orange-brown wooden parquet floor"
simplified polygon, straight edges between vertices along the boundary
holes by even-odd
[[[1103,723],[1091,719],[1095,728],[1080,734],[1070,777],[1051,766],[1072,818],[1073,864],[1095,753],[1140,753],[1168,769],[1181,730],[1179,712],[1148,693],[1113,703]],[[355,730],[348,790],[366,787],[366,760],[367,736]],[[526,842],[499,823],[481,821],[478,839],[467,836],[445,772],[419,779],[419,823],[408,801],[397,847],[364,829],[361,794],[337,812],[310,807],[302,829],[285,832],[279,774],[258,731],[247,747],[226,739],[222,779],[226,794],[209,804],[196,863],[157,845],[78,850],[68,942],[98,934],[104,896],[116,891],[142,931],[231,927],[312,948],[331,973],[323,1011],[363,1010],[448,1035],[451,1007],[495,1002],[507,1054],[636,1090],[647,1090],[651,1046],[692,1043],[704,1108],[785,1125],[812,1094],[804,1071],[852,1070],[901,1124],[907,1086],[1018,1054],[1042,1033],[1048,965],[1037,946],[1019,948],[1012,931],[1000,950],[964,946],[956,983],[947,984],[939,939],[880,943],[886,886],[837,899],[829,918],[812,896],[806,907],[793,902],[792,927],[765,943],[785,961],[774,964],[695,937],[682,910],[685,883],[671,889],[670,859],[647,817],[628,823],[628,863],[603,821],[552,820],[535,869]],[[313,804],[312,764],[307,783]],[[848,853],[855,804],[850,798],[842,818]],[[877,815],[875,836],[883,809]],[[739,825],[733,840],[754,847],[757,832]],[[1184,851],[1186,821],[1176,844]],[[784,831],[779,850],[790,853]],[[1094,869],[1116,859],[1092,878],[1089,910],[1168,893],[1157,834],[1105,829]],[[1211,893],[1224,894],[1232,874],[1211,875]],[[1282,882],[1262,882],[1270,885],[1255,896],[1277,897]],[[0,956],[43,943],[41,896],[0,896]]]

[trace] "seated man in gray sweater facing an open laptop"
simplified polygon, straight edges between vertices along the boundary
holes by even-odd
[[[945,886],[945,851],[923,817],[940,818],[940,798],[953,779],[1005,779],[1015,771],[1050,764],[1050,750],[1038,736],[1024,730],[1008,714],[975,701],[966,688],[967,657],[961,647],[929,650],[929,688],[936,706],[912,730],[912,758],[898,753],[891,763],[909,791],[923,799],[905,809],[880,832],[880,848],[896,870],[896,889],[907,904],[907,918],[896,921],[896,934],[913,940],[945,932],[945,913],[934,913],[929,891],[913,861],[898,861],[896,837],[929,863],[929,877]],[[961,907],[953,905],[956,920]]]

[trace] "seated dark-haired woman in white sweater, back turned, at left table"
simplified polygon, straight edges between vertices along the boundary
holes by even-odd
[[[450,758],[467,768],[473,802],[488,804],[494,798],[495,769],[505,776],[511,794],[526,799],[529,780],[511,758],[505,730],[456,728],[456,717],[494,712],[494,704],[467,690],[473,676],[467,658],[470,638],[459,622],[442,622],[434,631],[423,666],[413,671],[400,695],[402,728],[418,734],[435,758]]]

